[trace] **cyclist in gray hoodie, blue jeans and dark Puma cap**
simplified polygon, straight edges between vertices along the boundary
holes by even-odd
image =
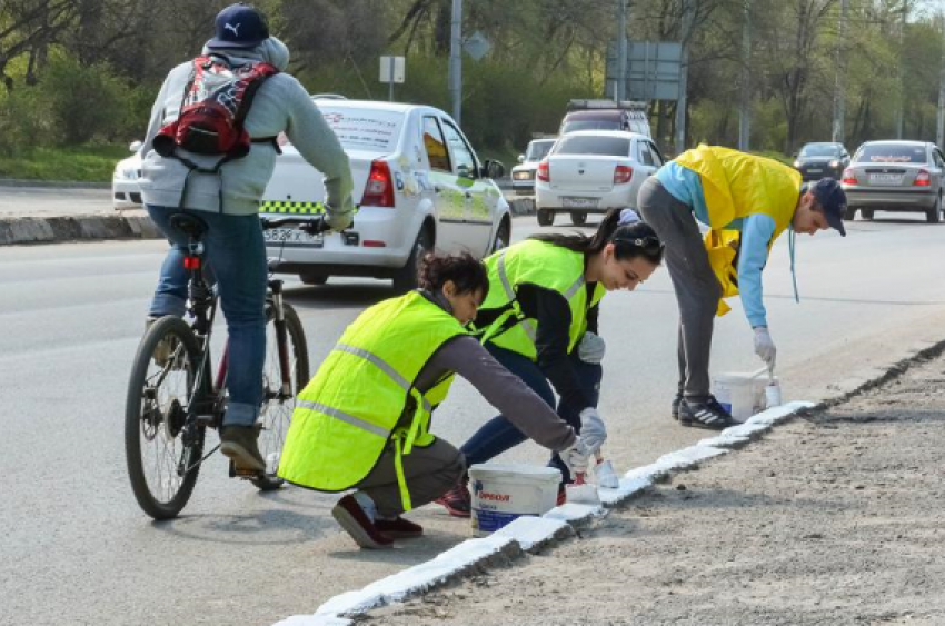
[[[289,61],[288,48],[270,37],[265,16],[248,4],[232,4],[220,11],[216,37],[206,43],[203,54],[233,67],[266,62],[282,70]],[[332,230],[351,223],[351,173],[338,139],[306,89],[281,71],[261,82],[245,119],[249,137],[267,141],[253,141],[245,157],[222,163],[219,157],[179,147],[173,156],[161,156],[153,149],[155,138],[178,119],[185,91],[193,83],[193,68],[195,62],[188,61],[165,79],[142,148],[140,185],[145,207],[171,241],[149,320],[185,314],[187,275],[182,257],[187,240],[169,227],[169,218],[177,212],[198,216],[208,227],[203,246],[229,332],[229,404],[220,449],[238,470],[261,471],[266,465],[253,424],[262,400],[268,268],[258,211],[278,151],[275,137],[285,132],[299,153],[325,175],[326,221]],[[193,170],[187,162],[200,169]],[[215,172],[218,165],[219,171]]]

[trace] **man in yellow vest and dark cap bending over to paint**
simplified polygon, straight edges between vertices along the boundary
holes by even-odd
[[[638,205],[666,242],[666,265],[679,305],[673,417],[683,426],[726,428],[732,415],[709,389],[714,318],[729,310],[722,298],[740,292],[755,332],[755,352],[774,370],[776,348],[762,301],[762,270],[770,248],[790,230],[794,274],[795,233],[834,228],[846,236],[846,196],[833,178],[803,187],[797,170],[773,159],[699,146],[647,180]],[[709,228],[705,240],[696,220]]]

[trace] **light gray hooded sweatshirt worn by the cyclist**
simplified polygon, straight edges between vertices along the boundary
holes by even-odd
[[[248,50],[205,47],[203,53],[209,52],[225,54],[233,63],[267,61],[280,70],[256,92],[246,117],[246,130],[251,138],[276,137],[285,131],[305,160],[325,175],[326,203],[331,213],[350,215],[354,211],[354,186],[348,157],[306,89],[291,76],[281,73],[289,63],[289,49],[270,37]],[[151,120],[141,149],[143,163],[140,186],[146,205],[177,207],[181,203],[183,179],[189,170],[179,160],[158,155],[153,150],[153,139],[161,127],[177,119],[192,67],[192,61],[188,61],[170,71],[151,109]],[[212,168],[219,161],[219,157],[193,155],[186,150],[181,150],[181,153],[201,168]],[[222,212],[245,216],[259,211],[262,192],[272,176],[276,156],[271,142],[253,143],[249,155],[223,165]],[[195,172],[187,183],[183,207],[220,211],[219,192],[220,177]]]

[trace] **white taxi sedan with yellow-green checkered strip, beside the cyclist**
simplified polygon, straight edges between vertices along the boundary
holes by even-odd
[[[417,260],[435,247],[484,257],[508,245],[511,213],[493,178],[498,161],[481,162],[452,119],[439,109],[367,100],[317,98],[350,159],[358,205],[354,226],[312,237],[267,230],[267,254],[282,274],[308,285],[329,276],[392,278],[416,286]],[[290,145],[282,147],[260,213],[322,212],[322,177]]]

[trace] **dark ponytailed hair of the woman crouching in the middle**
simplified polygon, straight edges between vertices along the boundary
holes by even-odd
[[[651,226],[645,221],[637,220],[620,226],[620,213],[623,209],[610,209],[604,216],[597,232],[593,236],[576,232],[574,235],[561,235],[559,232],[548,235],[533,235],[529,239],[547,241],[575,252],[594,255],[604,249],[607,244],[614,244],[614,256],[617,259],[633,259],[643,257],[654,265],[663,262],[663,242]]]

